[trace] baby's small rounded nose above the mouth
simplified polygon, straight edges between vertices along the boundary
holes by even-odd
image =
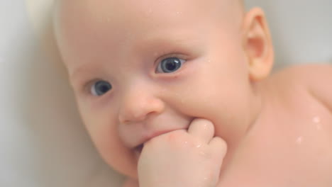
[[[164,103],[149,93],[149,91],[138,91],[123,96],[123,101],[118,114],[121,124],[138,123],[144,121],[149,115],[162,113]]]

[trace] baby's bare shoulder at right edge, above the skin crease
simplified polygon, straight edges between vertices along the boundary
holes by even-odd
[[[307,92],[332,113],[332,64],[294,65],[272,74],[271,81]]]

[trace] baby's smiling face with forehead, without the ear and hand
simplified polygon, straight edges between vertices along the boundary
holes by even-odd
[[[61,1],[57,39],[105,161],[136,176],[155,133],[211,120],[228,146],[252,118],[237,1]],[[239,118],[240,117],[240,118]]]

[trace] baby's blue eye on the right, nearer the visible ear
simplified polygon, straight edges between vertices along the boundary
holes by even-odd
[[[172,73],[177,71],[182,64],[184,63],[184,60],[180,60],[177,57],[170,57],[162,60],[160,64],[158,64],[157,71],[158,73]]]

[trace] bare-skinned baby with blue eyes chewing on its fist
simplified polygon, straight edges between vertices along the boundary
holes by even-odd
[[[332,186],[332,66],[269,76],[265,15],[239,0],[63,0],[79,112],[124,186]]]

